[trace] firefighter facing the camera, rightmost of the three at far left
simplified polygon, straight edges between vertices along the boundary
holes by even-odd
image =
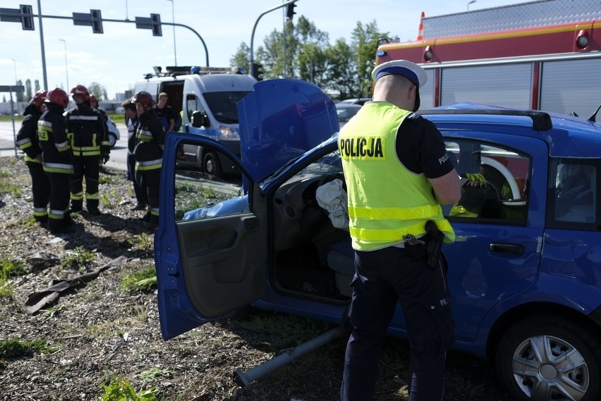
[[[83,208],[85,178],[86,209],[90,214],[99,216],[100,166],[103,159],[108,160],[111,152],[107,123],[102,114],[90,106],[90,93],[85,86],[73,87],[71,96],[76,104],[75,108],[66,113],[75,166],[75,173],[71,177],[71,212],[77,213]]]

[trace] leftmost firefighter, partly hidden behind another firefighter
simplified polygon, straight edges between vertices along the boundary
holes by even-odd
[[[44,225],[48,222],[48,202],[50,199],[50,181],[42,167],[42,149],[37,139],[37,121],[46,111],[47,91],[38,90],[23,112],[23,123],[17,134],[17,146],[25,152],[25,164],[31,175],[33,192],[33,217]]]

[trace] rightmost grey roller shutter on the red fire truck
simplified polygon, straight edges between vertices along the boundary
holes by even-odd
[[[545,61],[540,109],[589,118],[601,104],[601,58]]]

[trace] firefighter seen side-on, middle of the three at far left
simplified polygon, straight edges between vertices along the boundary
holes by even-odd
[[[42,149],[42,166],[50,181],[50,209],[48,229],[51,233],[73,231],[73,220],[68,214],[69,178],[73,175],[73,157],[67,136],[67,122],[63,117],[69,102],[61,88],[46,94],[46,111],[37,121],[37,138]]]

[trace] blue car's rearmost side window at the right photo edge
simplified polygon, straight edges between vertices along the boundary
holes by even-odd
[[[552,159],[547,226],[598,230],[600,225],[598,159]]]

